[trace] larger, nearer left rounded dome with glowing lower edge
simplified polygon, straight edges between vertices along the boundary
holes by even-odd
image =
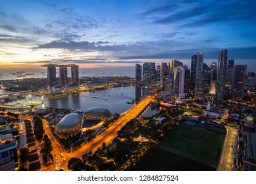
[[[66,114],[64,118],[55,126],[55,133],[59,137],[72,137],[76,135],[82,126],[82,116],[78,113]]]

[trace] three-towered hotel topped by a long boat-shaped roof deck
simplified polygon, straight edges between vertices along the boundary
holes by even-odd
[[[55,85],[68,85],[75,84],[79,85],[79,76],[78,76],[78,65],[76,64],[44,64],[41,65],[47,67],[47,86],[52,87]],[[56,78],[56,68],[59,67],[59,81]],[[68,67],[71,68],[71,79],[68,81]]]

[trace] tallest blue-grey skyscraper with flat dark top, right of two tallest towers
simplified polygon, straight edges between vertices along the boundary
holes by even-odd
[[[224,99],[227,74],[228,51],[220,50],[218,55],[217,99]]]

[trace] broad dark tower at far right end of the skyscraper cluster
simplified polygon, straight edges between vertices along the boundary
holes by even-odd
[[[232,97],[242,99],[244,93],[247,65],[234,65],[232,78]]]

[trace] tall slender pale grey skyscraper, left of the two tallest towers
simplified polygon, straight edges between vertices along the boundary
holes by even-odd
[[[203,51],[197,52],[195,72],[195,97],[203,98]]]

